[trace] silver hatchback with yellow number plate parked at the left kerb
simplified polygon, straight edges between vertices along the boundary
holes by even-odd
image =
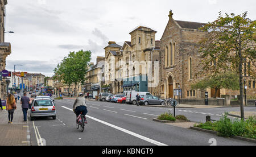
[[[35,117],[52,117],[56,119],[56,108],[51,98],[35,98],[31,104],[30,120]]]

